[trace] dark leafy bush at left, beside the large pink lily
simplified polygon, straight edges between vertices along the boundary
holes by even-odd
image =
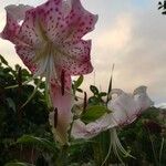
[[[12,69],[0,55],[0,165],[14,157],[20,158],[22,147],[14,147],[13,143],[23,134],[51,135],[43,86],[22,107],[39,81],[35,79],[23,84],[31,79],[29,71],[19,65]],[[13,85],[17,86],[12,89]]]

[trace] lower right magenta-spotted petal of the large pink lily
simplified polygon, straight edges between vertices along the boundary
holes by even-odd
[[[91,64],[91,40],[76,42],[75,44],[65,43],[62,45],[61,63],[71,75],[87,74],[92,72]]]

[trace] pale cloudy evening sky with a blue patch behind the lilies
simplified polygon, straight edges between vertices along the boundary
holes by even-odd
[[[24,3],[38,6],[45,0],[1,0],[0,31],[6,24],[4,7]],[[98,14],[92,39],[94,72],[85,76],[83,90],[95,84],[107,91],[111,69],[115,64],[113,87],[133,92],[146,85],[156,103],[166,103],[166,15],[157,10],[157,0],[82,0],[89,11]],[[22,62],[9,41],[0,39],[0,54],[10,64]]]

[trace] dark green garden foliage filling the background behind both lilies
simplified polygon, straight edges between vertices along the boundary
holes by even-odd
[[[45,103],[44,81],[41,82],[37,93],[27,103],[39,82],[40,79],[32,80],[29,71],[18,64],[12,69],[0,55],[1,166],[54,166],[54,160],[59,166],[60,148],[53,141],[48,123],[49,111]],[[81,89],[82,83],[83,76],[73,82],[74,94],[84,94],[84,104],[75,106],[83,111],[82,121],[89,123],[106,112],[104,101],[106,101],[107,93],[100,92],[96,86],[91,85],[92,95],[87,98],[86,93]],[[79,97],[75,97],[75,101],[77,100]],[[27,104],[24,105],[24,103]],[[118,136],[123,146],[135,157],[134,159],[122,156],[126,165],[165,166],[166,110],[156,107],[147,110],[136,122],[118,128]],[[108,146],[108,132],[101,133],[90,141],[71,138],[70,148],[65,154],[66,160],[63,165],[100,166],[107,155]],[[120,163],[118,158],[111,152],[104,165]]]

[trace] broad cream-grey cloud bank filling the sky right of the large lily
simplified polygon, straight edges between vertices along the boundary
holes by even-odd
[[[166,23],[149,10],[118,13],[114,22],[94,37],[93,62],[97,86],[107,89],[115,63],[114,87],[131,92],[147,85],[156,103],[166,102]]]

